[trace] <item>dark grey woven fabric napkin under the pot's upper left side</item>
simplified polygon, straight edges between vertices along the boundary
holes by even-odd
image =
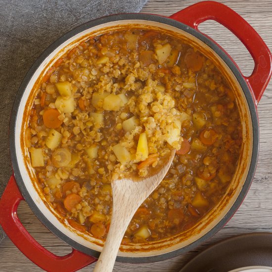
[[[0,196],[12,173],[8,122],[26,72],[45,48],[92,19],[139,12],[147,0],[0,0]],[[4,237],[0,227],[0,241]]]

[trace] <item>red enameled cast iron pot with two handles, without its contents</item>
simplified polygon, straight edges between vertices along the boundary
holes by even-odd
[[[198,31],[198,25],[206,20],[221,23],[246,46],[255,62],[251,76],[243,76],[227,52]],[[244,142],[236,173],[226,195],[200,223],[193,229],[166,240],[140,246],[122,245],[117,261],[129,263],[162,261],[196,247],[227,223],[244,199],[253,179],[259,150],[256,106],[271,77],[272,56],[261,37],[244,19],[221,3],[204,1],[170,17],[139,13],[111,15],[90,21],[50,45],[34,63],[17,93],[10,120],[10,156],[14,174],[0,200],[0,224],[12,242],[32,262],[46,271],[68,272],[83,268],[96,260],[102,244],[93,237],[79,235],[68,224],[61,223],[54,211],[45,205],[42,194],[38,193],[39,189],[35,188],[35,182],[32,182],[35,179],[31,175],[33,170],[25,162],[26,150],[20,144],[21,135],[24,134],[26,127],[23,116],[29,110],[27,105],[33,102],[35,83],[39,76],[43,75],[61,54],[84,41],[88,35],[98,35],[132,26],[174,33],[216,62],[235,90]],[[29,100],[29,97],[32,98]],[[27,201],[45,227],[72,246],[72,253],[63,257],[55,256],[34,240],[16,214],[21,200]]]

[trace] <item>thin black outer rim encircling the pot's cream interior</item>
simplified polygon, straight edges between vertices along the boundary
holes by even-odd
[[[16,120],[17,120],[17,109],[19,107],[19,104],[21,102],[22,95],[32,78],[33,74],[37,70],[37,68],[40,66],[40,64],[44,61],[44,59],[54,50],[56,49],[59,45],[64,43],[66,40],[70,39],[71,37],[75,36],[76,34],[87,30],[91,27],[101,25],[104,23],[108,22],[114,22],[114,21],[123,21],[123,20],[146,20],[146,21],[153,21],[153,22],[159,22],[163,23],[166,25],[170,25],[176,28],[179,28],[200,41],[202,41],[204,44],[208,45],[211,49],[213,49],[222,59],[223,61],[227,64],[229,69],[232,71],[234,76],[236,77],[239,85],[241,86],[241,89],[245,95],[246,101],[248,103],[249,111],[251,114],[251,122],[252,122],[252,128],[253,128],[253,150],[252,150],[252,157],[251,157],[251,162],[248,170],[248,174],[246,177],[246,180],[243,184],[243,187],[235,200],[234,204],[232,207],[229,209],[227,214],[222,218],[222,220],[215,226],[213,227],[210,231],[208,231],[205,235],[197,239],[196,241],[192,242],[191,244],[182,247],[180,249],[156,255],[156,256],[148,256],[148,257],[120,257],[117,256],[116,261],[118,262],[124,262],[124,263],[150,263],[150,262],[158,262],[158,261],[163,261],[167,260],[173,257],[176,257],[178,255],[181,255],[182,253],[185,253],[196,246],[200,245],[203,243],[205,240],[208,238],[212,237],[216,232],[218,232],[222,227],[227,224],[228,220],[233,216],[235,211],[238,209],[240,204],[242,203],[244,197],[246,196],[246,193],[250,187],[250,184],[253,180],[256,165],[257,165],[257,159],[258,159],[258,152],[259,152],[259,124],[258,124],[258,116],[257,116],[257,110],[255,107],[255,102],[254,99],[251,95],[251,92],[241,75],[241,72],[238,70],[238,68],[235,66],[233,61],[227,56],[227,54],[218,46],[216,45],[212,40],[201,34],[200,32],[196,31],[195,29],[178,22],[176,20],[173,20],[168,17],[163,17],[160,15],[153,15],[153,14],[144,14],[144,13],[124,13],[124,14],[117,14],[117,15],[110,15],[110,16],[105,16],[102,18],[98,18],[92,21],[89,21],[71,31],[63,35],[61,38],[59,38],[57,41],[55,41],[53,44],[51,44],[42,54],[41,56],[35,61],[33,66],[30,68],[28,73],[26,74],[17,94],[14,100],[12,112],[11,112],[11,118],[10,118],[10,124],[9,124],[9,149],[10,149],[10,157],[11,157],[11,162],[12,162],[12,167],[14,171],[14,177],[15,180],[19,186],[19,189],[25,198],[26,202],[32,209],[33,213],[37,216],[37,218],[47,227],[51,232],[53,232],[57,237],[65,241],[67,244],[72,246],[73,248],[84,252],[88,255],[91,255],[93,257],[98,258],[100,252],[95,251],[93,249],[90,249],[86,246],[83,246],[79,244],[78,242],[74,241],[73,239],[69,238],[66,236],[64,233],[62,233],[58,228],[56,228],[49,220],[46,219],[44,214],[39,210],[39,208],[36,206],[35,202],[33,201],[31,195],[29,194],[28,190],[26,189],[26,186],[24,184],[24,181],[22,179],[21,173],[19,171],[19,166],[18,166],[18,161],[16,157],[16,152],[15,152],[15,126],[16,126]]]

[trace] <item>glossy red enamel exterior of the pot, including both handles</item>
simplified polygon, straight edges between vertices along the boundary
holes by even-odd
[[[262,38],[247,22],[226,5],[214,1],[196,3],[173,14],[170,18],[197,31],[200,23],[206,20],[215,20],[238,38],[254,59],[255,67],[252,75],[243,76],[243,78],[252,92],[255,105],[257,105],[271,78],[272,55]],[[205,36],[212,40],[207,35]],[[224,50],[220,45],[218,46]],[[226,51],[225,53],[227,54]],[[227,56],[231,59],[228,54]],[[235,64],[234,61],[233,63]],[[235,66],[238,68],[236,64]],[[0,225],[12,242],[32,262],[45,271],[72,272],[96,261],[94,257],[75,249],[63,257],[47,251],[27,232],[17,217],[17,207],[22,200],[24,198],[12,176],[0,200]]]

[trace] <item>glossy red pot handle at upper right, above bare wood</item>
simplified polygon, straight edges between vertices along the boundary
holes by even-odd
[[[254,60],[255,66],[252,74],[249,77],[243,77],[254,94],[256,105],[258,104],[271,78],[272,55],[268,46],[247,21],[231,8],[215,1],[193,4],[171,15],[170,18],[197,31],[199,31],[198,25],[207,20],[215,20],[229,29],[246,46]],[[235,62],[234,64],[237,66]]]

